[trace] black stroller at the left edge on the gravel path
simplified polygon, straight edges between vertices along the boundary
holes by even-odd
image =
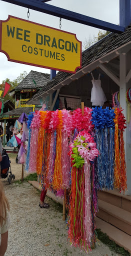
[[[7,181],[9,184],[11,183],[11,179],[15,178],[15,175],[12,174],[12,172],[11,172],[10,162],[11,161],[9,160],[6,150],[3,149],[2,150],[2,161],[0,162],[0,175],[1,175],[1,178],[7,177]]]

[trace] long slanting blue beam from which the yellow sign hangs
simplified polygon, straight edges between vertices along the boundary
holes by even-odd
[[[62,9],[47,3],[42,3],[37,0],[3,0],[16,5],[20,5],[29,9],[44,12],[53,16],[65,18],[74,22],[78,22],[84,25],[97,27],[99,29],[108,30],[111,32],[120,33],[124,31],[123,26],[115,25],[100,19],[88,17],[80,13],[76,13],[70,10]]]

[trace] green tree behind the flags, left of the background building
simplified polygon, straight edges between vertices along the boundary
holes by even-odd
[[[26,75],[27,75],[27,72],[23,71],[23,73],[20,73],[20,75],[17,76],[17,78],[15,78],[13,81],[11,81],[9,78],[2,80],[2,83],[0,84],[0,90],[4,91],[5,82],[10,84],[10,88],[8,92],[10,90],[13,90],[25,78]],[[14,103],[14,99],[12,98],[12,96],[9,96],[8,92],[6,93],[4,98],[3,98],[3,92],[2,92],[0,100],[3,99],[3,102],[5,102],[6,100],[10,99]]]

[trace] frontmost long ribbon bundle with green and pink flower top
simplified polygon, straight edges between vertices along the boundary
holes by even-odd
[[[98,155],[96,143],[86,130],[78,133],[70,144],[71,195],[68,237],[71,244],[90,249],[94,242],[94,213],[91,212],[90,163]]]

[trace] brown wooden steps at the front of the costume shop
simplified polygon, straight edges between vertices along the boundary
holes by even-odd
[[[131,196],[98,191],[97,228],[131,253]]]

